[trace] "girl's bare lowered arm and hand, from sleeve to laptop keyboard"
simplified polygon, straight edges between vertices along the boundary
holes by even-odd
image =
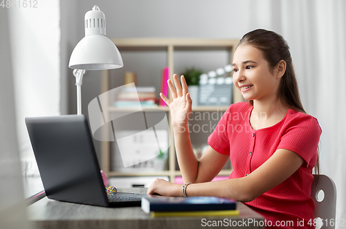
[[[277,151],[257,170],[242,178],[207,183],[192,183],[186,188],[187,196],[218,196],[248,202],[271,190],[291,176],[304,162],[303,158],[288,149]],[[156,179],[147,194],[183,196],[182,186]]]

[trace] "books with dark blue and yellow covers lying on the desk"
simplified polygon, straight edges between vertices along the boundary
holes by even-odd
[[[237,202],[212,196],[142,198],[142,210],[152,217],[237,216]]]

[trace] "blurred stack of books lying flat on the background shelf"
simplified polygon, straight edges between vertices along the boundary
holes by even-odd
[[[138,101],[142,107],[157,107],[156,89],[154,86],[125,87],[116,94],[114,106],[136,107]]]

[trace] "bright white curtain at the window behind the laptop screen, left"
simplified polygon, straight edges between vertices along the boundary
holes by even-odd
[[[60,115],[60,0],[39,1],[36,6],[6,9],[18,143],[26,176],[39,172],[24,118]]]

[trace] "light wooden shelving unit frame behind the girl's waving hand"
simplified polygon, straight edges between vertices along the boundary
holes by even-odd
[[[112,42],[116,44],[120,53],[122,51],[140,51],[140,50],[165,50],[167,51],[167,66],[170,68],[170,78],[174,72],[174,52],[179,51],[213,51],[213,50],[226,50],[228,52],[228,63],[233,62],[233,53],[239,40],[237,39],[112,39]],[[232,72],[229,73],[232,76]],[[102,71],[102,92],[109,91],[110,89],[110,71]],[[161,77],[160,77],[161,80]],[[159,90],[159,89],[158,89]],[[172,95],[169,95],[172,98]],[[235,89],[233,85],[233,103],[241,102],[242,95]],[[109,103],[108,103],[109,104]],[[104,116],[109,116],[109,113],[115,111],[129,111],[131,108],[119,108],[119,107],[107,107],[103,109]],[[169,124],[171,123],[171,117],[168,107],[158,107],[168,114]],[[192,107],[192,112],[195,111],[221,111],[224,112],[228,107]],[[145,108],[144,108],[145,110]],[[149,109],[148,109],[149,110]],[[102,142],[101,144],[101,157],[102,170],[107,176],[169,176],[170,181],[174,182],[176,176],[181,176],[181,172],[176,170],[176,153],[174,147],[174,136],[172,128],[170,128],[170,148],[169,148],[169,165],[168,170],[158,172],[140,172],[140,173],[122,173],[111,171],[111,143]],[[229,176],[232,169],[221,170],[220,176]]]

